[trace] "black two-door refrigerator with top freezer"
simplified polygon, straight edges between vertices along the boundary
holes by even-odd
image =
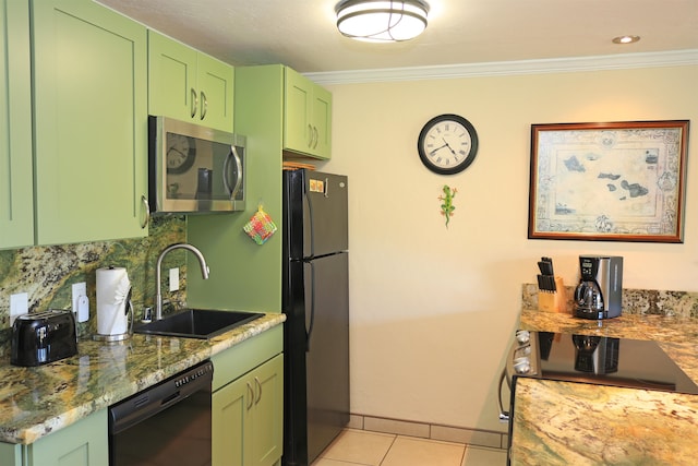
[[[284,171],[286,466],[308,466],[349,421],[347,177]]]

